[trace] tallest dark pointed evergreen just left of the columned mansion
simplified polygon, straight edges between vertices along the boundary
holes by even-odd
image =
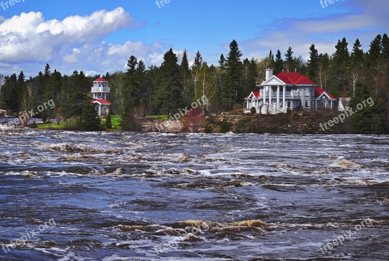
[[[245,97],[244,89],[241,86],[242,52],[239,51],[238,43],[232,40],[230,53],[226,62],[227,87],[223,89],[223,107],[231,110],[233,104],[241,103]]]

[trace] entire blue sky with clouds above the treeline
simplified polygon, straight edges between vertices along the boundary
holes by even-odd
[[[7,2],[7,0],[2,0]],[[323,3],[325,6],[325,3]],[[146,65],[164,52],[199,50],[209,64],[236,39],[244,57],[269,50],[308,58],[312,43],[333,53],[346,37],[358,37],[365,51],[378,34],[389,33],[388,0],[20,0],[0,7],[0,74],[23,70],[35,76],[49,63],[62,74],[125,70],[130,55]]]

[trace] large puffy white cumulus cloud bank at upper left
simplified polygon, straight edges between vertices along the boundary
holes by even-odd
[[[66,73],[76,68],[93,72],[122,70],[129,55],[158,61],[155,57],[163,47],[158,42],[147,45],[126,41],[115,45],[102,41],[119,29],[141,26],[122,7],[99,10],[84,17],[70,16],[62,21],[45,20],[40,12],[21,13],[8,19],[0,17],[0,69],[36,70],[37,63],[50,63]]]

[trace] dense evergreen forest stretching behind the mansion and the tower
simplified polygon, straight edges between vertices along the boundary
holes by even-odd
[[[177,54],[170,49],[159,67],[146,68],[142,60],[131,55],[126,71],[101,76],[111,88],[111,113],[126,119],[140,107],[148,115],[174,114],[204,95],[210,101],[203,108],[207,113],[237,110],[242,108],[243,98],[265,79],[265,69],[274,69],[274,74],[297,71],[336,98],[351,97],[351,106],[372,97],[374,106],[353,117],[353,133],[388,134],[388,35],[377,35],[368,48],[362,47],[359,39],[352,47],[346,38],[339,39],[335,49],[334,53],[319,53],[312,44],[307,61],[294,55],[292,47],[283,54],[277,50],[275,55],[270,51],[266,57],[248,59],[243,58],[238,43],[232,40],[230,52],[221,54],[216,65],[209,65],[200,51],[190,62],[186,51]],[[99,77],[87,76],[82,70],[62,75],[52,71],[49,64],[29,79],[25,79],[23,71],[0,75],[0,108],[17,115],[53,100],[55,108],[44,112],[48,117],[82,118],[83,113],[90,115],[90,87]]]

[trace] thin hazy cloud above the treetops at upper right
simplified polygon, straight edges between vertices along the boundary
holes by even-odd
[[[340,14],[326,16],[328,8],[342,8]],[[280,18],[271,21],[271,30],[263,29],[255,39],[239,41],[245,57],[265,57],[272,50],[274,56],[279,49],[284,53],[289,46],[294,55],[302,55],[309,59],[309,47],[315,44],[319,53],[332,54],[338,39],[346,37],[349,51],[352,50],[356,38],[359,38],[364,51],[369,50],[371,40],[389,28],[389,1],[354,0],[344,1],[341,6],[329,6],[316,18]],[[350,11],[352,10],[352,11]],[[324,16],[324,17],[323,17]]]

